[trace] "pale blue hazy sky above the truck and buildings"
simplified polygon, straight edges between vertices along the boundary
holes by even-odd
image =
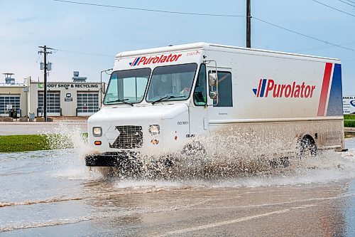
[[[116,7],[0,0],[0,73],[15,73],[17,83],[28,76],[43,81],[44,45],[55,48],[49,82],[70,81],[74,70],[99,81],[122,51],[195,42],[246,46],[246,0],[76,2]],[[355,95],[355,0],[251,0],[251,16],[252,48],[339,58],[343,95]]]

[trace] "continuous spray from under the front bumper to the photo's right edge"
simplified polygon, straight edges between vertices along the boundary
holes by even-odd
[[[327,174],[324,181],[351,178],[355,171],[354,155],[344,157],[338,152],[319,152],[317,157],[295,157],[292,152],[281,152],[291,147],[286,139],[273,137],[265,140],[250,134],[229,132],[229,135],[214,135],[195,139],[192,145],[180,153],[165,156],[131,157],[122,167],[104,169],[106,177],[120,180],[206,180],[254,179],[263,180],[291,178],[300,182],[318,180],[317,173]],[[304,177],[304,179],[297,177]],[[305,178],[308,177],[308,178]],[[261,180],[255,181],[255,180]],[[269,183],[273,183],[268,180]],[[285,181],[287,184],[287,181]]]

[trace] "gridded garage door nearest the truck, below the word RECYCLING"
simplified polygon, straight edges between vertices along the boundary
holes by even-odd
[[[78,92],[77,112],[97,112],[99,111],[99,93]]]

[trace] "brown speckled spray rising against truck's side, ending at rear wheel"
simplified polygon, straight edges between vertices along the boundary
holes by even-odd
[[[181,152],[157,156],[146,150],[140,157],[129,157],[121,167],[99,170],[107,177],[138,179],[219,179],[280,172],[278,166],[285,172],[288,159],[275,156],[276,150],[284,148],[285,139],[266,142],[252,131],[231,130],[225,135],[197,137]]]

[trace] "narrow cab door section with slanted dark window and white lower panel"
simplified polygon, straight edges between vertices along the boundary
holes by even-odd
[[[196,137],[209,132],[207,118],[207,90],[207,70],[206,65],[202,63],[197,75],[195,89],[191,93],[192,100],[189,107],[190,137]]]

